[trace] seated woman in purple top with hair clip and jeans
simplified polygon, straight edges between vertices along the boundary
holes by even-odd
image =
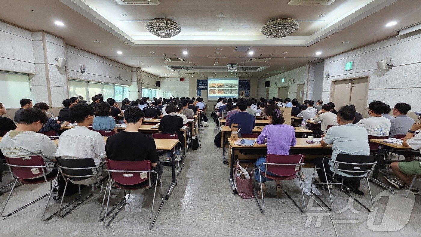
[[[295,146],[296,144],[294,127],[284,124],[285,120],[282,117],[282,112],[276,104],[267,105],[264,107],[264,111],[270,124],[264,126],[257,138],[257,144],[267,143],[266,154],[289,155],[290,146]],[[256,166],[259,167],[264,162],[266,162],[266,157],[260,157],[256,161]],[[264,171],[264,165],[260,169]],[[274,175],[270,172],[267,172],[267,174]],[[260,180],[258,172],[255,172],[255,179],[259,183],[262,183],[262,190],[258,192],[257,197],[259,199],[264,198],[267,191],[264,182],[272,179],[262,177],[262,180]],[[278,180],[276,181],[276,194],[279,198],[284,196],[282,186]]]

